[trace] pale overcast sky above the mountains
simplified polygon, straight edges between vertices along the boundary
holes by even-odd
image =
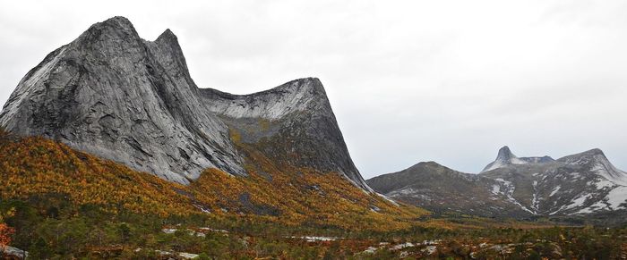
[[[357,168],[479,172],[508,145],[627,170],[625,1],[2,1],[0,104],[49,52],[122,15],[169,28],[201,88],[322,80]],[[235,3],[238,4],[235,4]]]

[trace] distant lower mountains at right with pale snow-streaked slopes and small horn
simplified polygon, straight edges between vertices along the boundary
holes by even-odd
[[[417,164],[368,184],[376,191],[427,209],[483,216],[603,216],[627,210],[627,173],[599,149],[558,160],[516,157],[502,147],[485,172],[455,172]]]

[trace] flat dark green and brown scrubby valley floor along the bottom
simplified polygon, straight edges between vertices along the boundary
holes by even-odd
[[[348,231],[288,227],[238,218],[107,214],[62,208],[54,217],[27,202],[3,200],[12,245],[29,259],[621,259],[626,229],[593,227],[437,228]],[[624,259],[624,258],[623,258]]]

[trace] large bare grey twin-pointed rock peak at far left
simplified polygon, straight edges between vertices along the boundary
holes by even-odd
[[[0,124],[180,183],[210,167],[245,174],[226,125],[196,91],[169,30],[148,42],[116,17],[47,55],[21,80]]]

